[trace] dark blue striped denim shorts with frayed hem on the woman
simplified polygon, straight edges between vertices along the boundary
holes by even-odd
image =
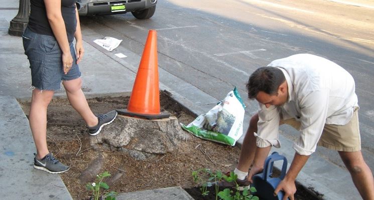
[[[73,65],[69,72],[64,74],[62,51],[54,36],[38,34],[27,27],[22,39],[25,54],[30,61],[32,86],[40,90],[58,90],[62,80],[80,77],[73,42],[70,43]]]

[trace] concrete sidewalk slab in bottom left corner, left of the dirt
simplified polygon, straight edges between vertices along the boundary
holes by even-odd
[[[72,199],[59,175],[33,167],[29,121],[14,97],[0,96],[0,195],[2,199]]]

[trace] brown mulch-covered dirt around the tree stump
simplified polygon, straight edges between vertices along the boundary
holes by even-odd
[[[129,97],[101,97],[87,99],[94,113],[103,113],[111,109],[126,108]],[[188,124],[195,116],[172,100],[168,95],[161,94],[161,109],[176,116],[178,121]],[[29,114],[29,102],[20,102],[26,115]],[[61,178],[73,199],[88,199],[90,192],[79,176],[92,160],[97,157],[93,148],[82,149],[81,139],[87,135],[87,127],[70,106],[67,99],[53,99],[47,113],[47,142],[54,155],[65,164],[70,164],[68,172]],[[188,134],[186,132],[186,134]],[[109,171],[107,180],[110,189],[116,192],[132,192],[145,189],[163,188],[180,185],[195,199],[203,199],[199,195],[198,185],[193,182],[191,172],[199,168],[210,168],[223,172],[232,170],[237,164],[240,149],[237,146],[223,145],[191,136],[182,141],[177,150],[159,154],[147,160],[136,160],[124,152],[114,151],[106,144],[98,145],[102,152],[102,171]],[[78,153],[79,152],[79,153]],[[119,178],[118,178],[119,177]],[[315,199],[304,189],[296,199]],[[208,199],[208,198],[204,198]]]

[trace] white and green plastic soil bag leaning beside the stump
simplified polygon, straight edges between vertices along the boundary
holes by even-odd
[[[243,134],[244,108],[235,87],[207,113],[199,115],[188,125],[181,123],[181,126],[200,138],[233,146]]]

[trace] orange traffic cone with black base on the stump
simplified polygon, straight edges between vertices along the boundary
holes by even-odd
[[[117,112],[122,115],[147,119],[170,116],[168,113],[160,113],[156,30],[149,30],[148,32],[128,107],[127,109],[117,110]]]

